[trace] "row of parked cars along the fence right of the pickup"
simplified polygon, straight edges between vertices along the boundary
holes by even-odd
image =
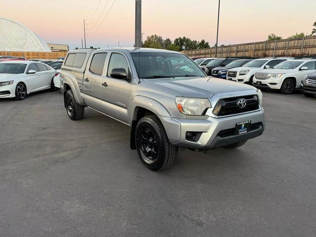
[[[195,62],[200,64],[205,60]],[[306,96],[316,95],[316,59],[313,58],[218,58],[206,66],[199,66],[208,76],[247,83],[260,89],[279,90],[282,94],[301,89]]]

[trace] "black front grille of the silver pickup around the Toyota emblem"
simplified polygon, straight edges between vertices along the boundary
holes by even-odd
[[[244,108],[238,106],[240,99],[244,99],[246,105]],[[213,113],[216,116],[237,115],[259,109],[259,100],[256,95],[247,95],[233,98],[221,99],[217,102]]]

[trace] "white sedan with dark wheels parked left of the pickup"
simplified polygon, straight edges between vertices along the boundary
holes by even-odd
[[[56,90],[55,69],[33,61],[4,61],[0,63],[0,98],[25,99],[32,92]]]

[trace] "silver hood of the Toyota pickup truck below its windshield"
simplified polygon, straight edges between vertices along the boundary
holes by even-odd
[[[210,98],[214,94],[254,90],[251,85],[213,77],[186,77],[166,79],[144,79],[149,83],[158,84],[186,97]]]

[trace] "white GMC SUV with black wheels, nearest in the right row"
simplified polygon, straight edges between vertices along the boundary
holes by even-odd
[[[305,75],[316,70],[316,60],[288,60],[273,69],[259,71],[255,74],[253,85],[260,88],[277,89],[282,94],[291,94],[299,89]]]

